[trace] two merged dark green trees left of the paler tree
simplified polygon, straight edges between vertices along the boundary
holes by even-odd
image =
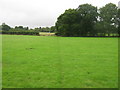
[[[61,36],[94,36],[97,21],[97,8],[90,4],[80,5],[77,9],[66,10],[58,17],[56,28]]]

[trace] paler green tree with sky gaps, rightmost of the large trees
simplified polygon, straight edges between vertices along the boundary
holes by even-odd
[[[110,36],[111,33],[117,33],[117,6],[113,3],[106,4],[99,9],[99,19],[104,33]]]

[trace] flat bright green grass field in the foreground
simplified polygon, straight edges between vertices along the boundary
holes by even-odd
[[[3,35],[3,88],[117,88],[118,38]]]

